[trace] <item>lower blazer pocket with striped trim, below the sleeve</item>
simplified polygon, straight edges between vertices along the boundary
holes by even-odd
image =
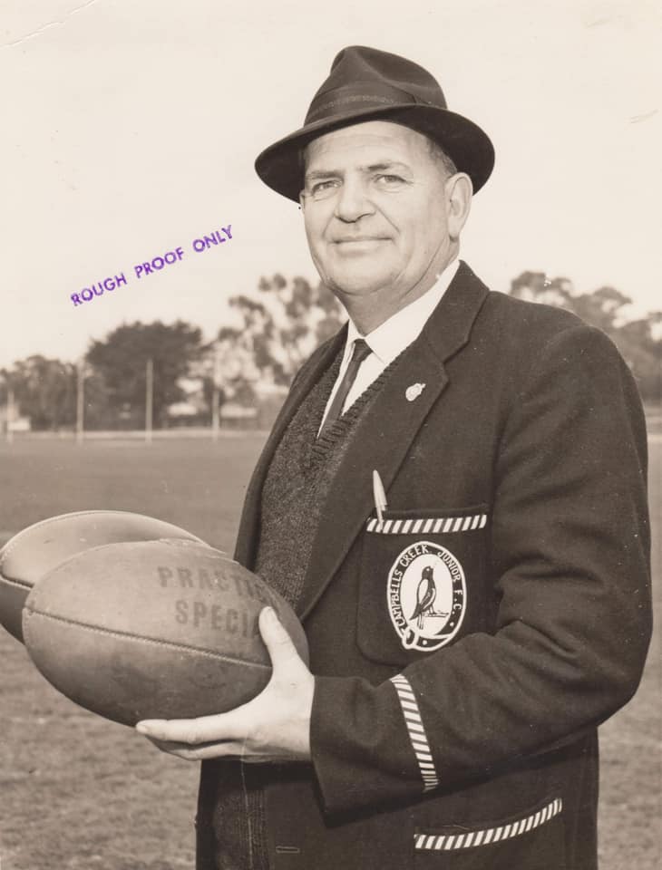
[[[417,828],[414,870],[566,870],[560,797],[472,827]]]

